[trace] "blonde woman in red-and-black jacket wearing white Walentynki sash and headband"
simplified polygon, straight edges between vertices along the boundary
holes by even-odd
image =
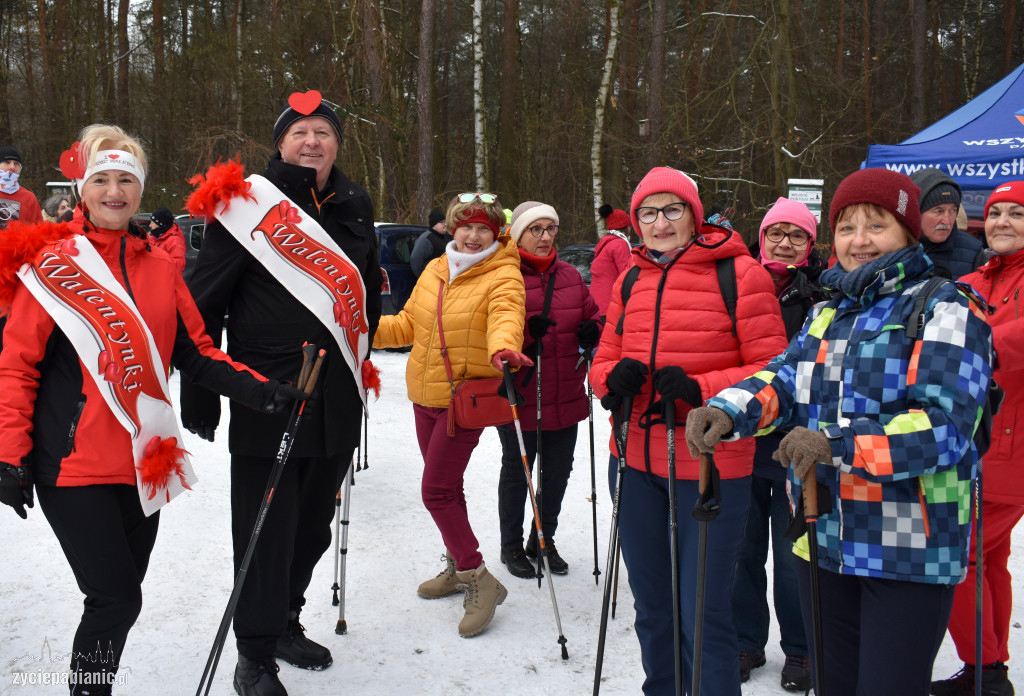
[[[146,171],[135,138],[89,126],[60,162],[82,201],[72,222],[13,223],[0,236],[0,502],[25,518],[38,494],[85,595],[71,693],[102,695],[142,607],[157,510],[195,480],[169,363],[266,411],[301,392],[232,362],[204,333],[181,273],[132,222]]]

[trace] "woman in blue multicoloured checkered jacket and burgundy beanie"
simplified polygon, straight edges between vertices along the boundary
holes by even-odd
[[[792,427],[776,459],[790,467],[794,508],[814,468],[824,664],[813,667],[829,696],[928,694],[967,572],[992,333],[978,304],[946,284],[928,301],[919,338],[907,335],[932,270],[919,244],[919,194],[888,170],[844,179],[829,210],[840,265],[820,278],[836,298],[815,306],[764,371],[687,422],[694,452],[730,434]],[[794,552],[810,638],[808,549],[805,535]]]

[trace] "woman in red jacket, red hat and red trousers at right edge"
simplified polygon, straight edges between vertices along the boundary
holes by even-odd
[[[1007,562],[1010,534],[1024,517],[1024,471],[1020,467],[1024,432],[1024,319],[1021,289],[1024,288],[1024,181],[998,186],[985,203],[985,238],[995,256],[984,266],[961,278],[981,293],[995,313],[988,318],[992,343],[998,355],[993,378],[1006,391],[1002,407],[992,420],[992,444],[979,471],[984,510],[982,527],[982,693],[1009,696],[1014,693],[1007,677],[1010,659],[1010,614],[1013,586]],[[979,463],[979,470],[982,469]],[[964,668],[951,679],[932,684],[936,696],[973,694],[975,669],[975,530],[972,530],[967,578],[956,585],[949,635]],[[1019,654],[1019,653],[1018,653]]]

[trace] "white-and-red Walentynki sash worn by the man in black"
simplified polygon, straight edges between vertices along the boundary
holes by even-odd
[[[247,197],[217,205],[214,217],[334,337],[364,405],[361,362],[369,346],[366,287],[359,269],[316,220],[258,174]]]

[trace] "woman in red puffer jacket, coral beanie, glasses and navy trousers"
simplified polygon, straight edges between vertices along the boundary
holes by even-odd
[[[633,250],[639,275],[625,307],[623,277],[612,289],[590,379],[598,396],[633,398],[633,410],[626,415],[629,444],[618,526],[636,602],[636,632],[646,673],[643,691],[671,694],[675,670],[668,609],[672,606],[670,482],[662,401],[675,401],[676,438],[682,442],[690,408],[756,373],[785,349],[786,340],[771,277],[737,233],[703,223],[703,206],[690,177],[668,167],[652,169],[634,191],[630,213],[644,241],[643,247]],[[718,280],[720,259],[735,270],[734,332]],[[698,472],[697,461],[686,448],[676,449],[683,683],[689,684],[698,531],[690,511],[698,496]],[[701,691],[739,696],[731,595],[751,494],[754,442],[723,443],[716,463],[723,503],[708,532]]]

